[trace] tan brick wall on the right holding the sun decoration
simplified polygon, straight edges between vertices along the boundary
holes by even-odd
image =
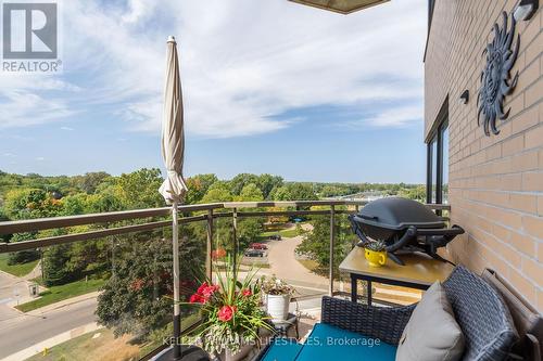
[[[490,267],[543,310],[543,11],[517,24],[518,86],[500,134],[477,125],[481,56],[491,28],[517,0],[437,0],[425,59],[425,136],[449,95],[452,222],[466,229],[447,252],[479,272]],[[543,4],[541,4],[543,5]],[[460,93],[468,89],[468,104]],[[426,138],[426,137],[425,137]]]

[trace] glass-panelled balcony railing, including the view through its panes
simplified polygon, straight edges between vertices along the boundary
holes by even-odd
[[[291,310],[311,324],[323,295],[351,294],[339,263],[357,242],[346,217],[363,206],[304,201],[179,207],[181,300],[237,254],[241,271],[294,286]],[[0,359],[130,360],[167,347],[171,208],[0,222],[0,234],[18,241],[0,243],[8,272],[0,272]],[[382,304],[420,296],[380,284],[358,287],[358,295],[372,292]],[[198,322],[194,308],[181,306],[181,328]]]

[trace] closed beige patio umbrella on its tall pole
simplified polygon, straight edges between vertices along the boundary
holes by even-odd
[[[167,177],[160,188],[167,204],[172,205],[173,217],[173,257],[174,257],[174,358],[179,358],[180,307],[179,307],[179,233],[177,206],[187,192],[182,178],[185,153],[185,133],[182,124],[181,80],[177,57],[177,44],[174,37],[167,40],[166,86],[164,88],[164,112],[162,119],[162,156]]]

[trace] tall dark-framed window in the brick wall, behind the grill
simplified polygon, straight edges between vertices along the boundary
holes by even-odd
[[[445,101],[428,140],[427,203],[449,203],[449,103]]]

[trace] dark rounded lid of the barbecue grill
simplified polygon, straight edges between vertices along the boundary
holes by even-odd
[[[416,201],[387,197],[364,206],[357,215],[367,225],[389,230],[404,230],[409,225],[420,229],[445,228],[445,222],[424,204]]]

